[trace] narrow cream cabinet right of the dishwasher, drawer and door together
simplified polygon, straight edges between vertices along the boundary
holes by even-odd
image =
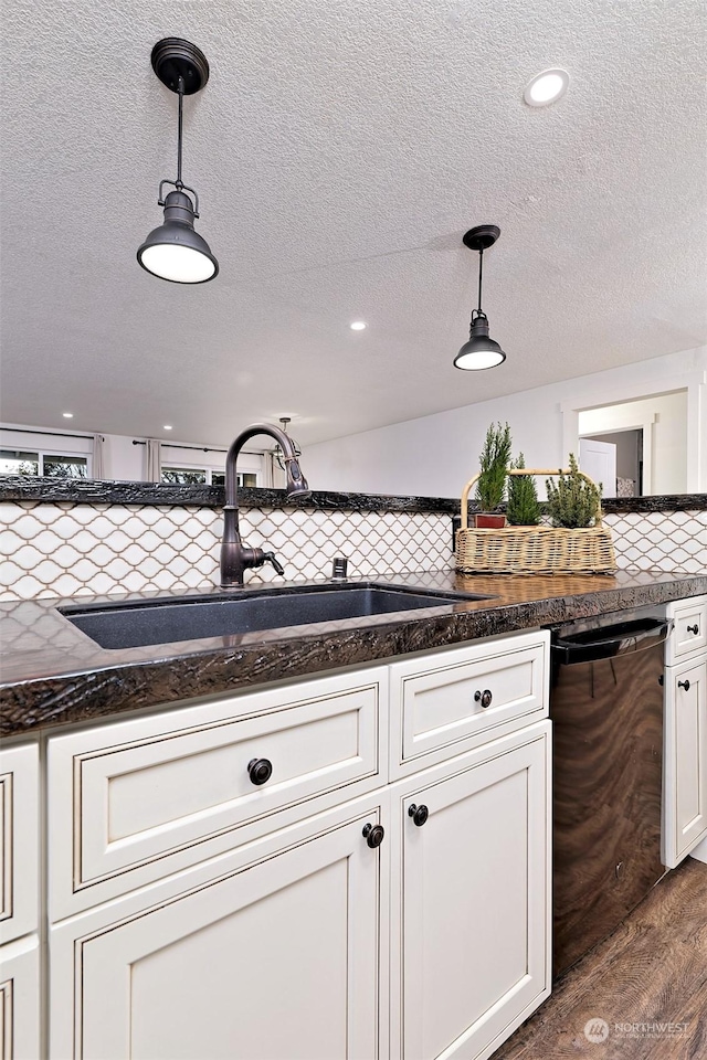
[[[663,859],[673,869],[707,837],[707,597],[669,604],[667,614]]]

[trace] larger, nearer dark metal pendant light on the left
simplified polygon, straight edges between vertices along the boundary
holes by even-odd
[[[171,92],[179,96],[177,138],[177,180],[162,180],[158,204],[165,208],[165,223],[154,229],[137,252],[137,259],[154,276],[173,284],[205,284],[219,272],[219,263],[207,241],[194,232],[199,216],[199,195],[181,179],[181,129],[184,96],[203,88],[209,80],[209,63],[196,44],[176,36],[158,41],[152,49],[152,70]],[[171,184],[162,199],[162,188]],[[187,192],[194,197],[192,203]]]

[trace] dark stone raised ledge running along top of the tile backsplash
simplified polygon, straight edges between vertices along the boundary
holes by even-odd
[[[463,485],[463,484],[462,484]],[[460,489],[461,494],[461,489]],[[99,481],[91,478],[32,478],[0,476],[0,501],[84,505],[165,505],[221,508],[223,486],[175,486],[162,483]],[[395,497],[386,494],[339,494],[314,490],[304,501],[287,500],[284,489],[239,490],[243,508],[304,508],[305,510],[349,511],[437,511],[458,512],[456,497]],[[469,510],[476,505],[471,504]],[[655,497],[611,497],[602,500],[605,512],[616,511],[704,511],[707,494],[675,494]],[[503,511],[502,505],[497,510]]]

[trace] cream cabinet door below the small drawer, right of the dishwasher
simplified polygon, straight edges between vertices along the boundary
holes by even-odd
[[[666,669],[664,859],[673,869],[707,835],[707,661]]]

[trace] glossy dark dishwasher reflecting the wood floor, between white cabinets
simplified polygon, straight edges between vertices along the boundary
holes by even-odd
[[[551,646],[555,976],[661,879],[663,646],[645,608],[556,628]]]

